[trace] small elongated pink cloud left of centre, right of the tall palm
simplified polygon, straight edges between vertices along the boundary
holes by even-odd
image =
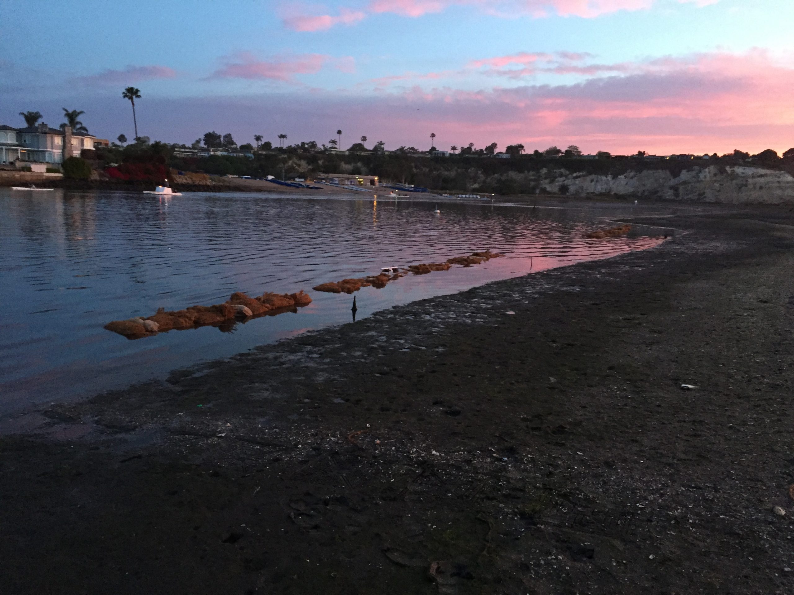
[[[272,59],[258,59],[248,52],[229,56],[224,65],[210,75],[210,79],[248,79],[275,80],[291,83],[295,75],[314,75],[326,65],[342,72],[355,70],[351,56],[334,58],[326,54],[299,54],[296,56],[275,56]]]

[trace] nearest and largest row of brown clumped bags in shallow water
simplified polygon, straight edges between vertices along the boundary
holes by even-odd
[[[273,294],[265,292],[258,298],[250,298],[241,292],[232,294],[228,301],[215,305],[193,305],[183,310],[166,312],[163,308],[150,317],[129,318],[125,321],[112,321],[105,325],[109,331],[116,332],[127,339],[142,339],[158,332],[183,331],[188,328],[211,326],[224,322],[294,311],[311,303],[308,294],[300,290],[297,294]]]

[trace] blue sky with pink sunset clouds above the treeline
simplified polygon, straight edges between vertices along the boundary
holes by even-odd
[[[792,0],[2,0],[0,125],[342,148],[794,147]]]

